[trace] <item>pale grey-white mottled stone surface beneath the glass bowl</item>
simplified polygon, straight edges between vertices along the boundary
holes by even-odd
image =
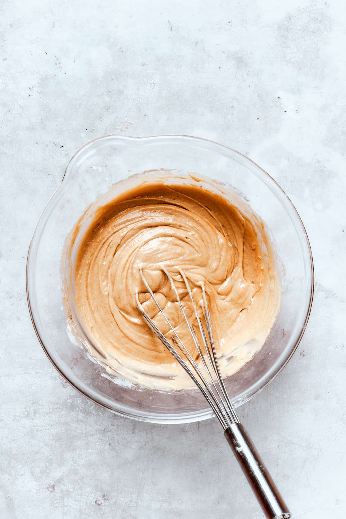
[[[75,151],[109,133],[184,133],[251,157],[306,225],[306,333],[239,414],[295,519],[346,517],[344,2],[1,10],[0,516],[262,517],[215,420],[151,425],[89,402],[51,366],[27,309],[27,248]]]

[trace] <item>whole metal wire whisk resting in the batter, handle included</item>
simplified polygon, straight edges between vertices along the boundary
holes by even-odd
[[[157,305],[158,310],[161,312],[164,320],[169,326],[169,333],[163,334],[158,326],[151,319],[143,305],[140,303],[139,294],[136,293],[137,307],[142,313],[148,326],[160,339],[163,345],[169,350],[174,359],[184,368],[186,373],[191,377],[193,382],[203,393],[206,401],[209,403],[215,416],[224,429],[224,435],[236,456],[246,478],[250,483],[266,517],[268,519],[289,519],[290,512],[281,497],[278,489],[276,488],[271,476],[262,462],[254,444],[248,436],[245,428],[240,424],[237,413],[232,405],[232,402],[227,394],[226,387],[220,373],[219,363],[217,360],[215,344],[212,334],[212,323],[210,318],[210,312],[207,304],[207,297],[203,284],[200,285],[202,289],[201,307],[203,318],[200,318],[196,302],[193,298],[189,281],[183,270],[178,270],[185,286],[192,304],[193,314],[196,317],[196,321],[199,329],[199,338],[197,337],[195,326],[191,324],[187,318],[186,311],[184,310],[181,298],[179,297],[178,290],[174,284],[173,278],[165,268],[162,268],[165,275],[168,277],[173,292],[176,297],[176,301],[182,311],[184,320],[186,322],[189,333],[191,334],[193,344],[199,354],[201,362],[193,359],[191,353],[186,348],[182,340],[179,338],[178,333],[171,325],[169,319],[164,313],[155,297],[154,292],[151,290],[144,274],[143,270],[140,270],[142,280],[154,302]],[[204,326],[203,326],[203,323]],[[205,333],[206,330],[206,333]],[[171,335],[170,335],[171,333]],[[169,338],[167,338],[167,336]],[[172,342],[170,342],[170,340]],[[202,346],[203,345],[203,346]]]

